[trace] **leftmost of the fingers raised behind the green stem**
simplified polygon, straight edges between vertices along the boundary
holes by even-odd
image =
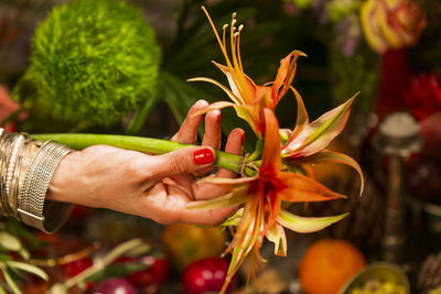
[[[180,142],[183,144],[193,144],[197,138],[197,129],[201,126],[203,115],[194,116],[198,110],[208,106],[208,102],[205,100],[198,100],[193,105],[190,109],[189,113],[184,122],[182,123],[180,130],[175,135],[173,135],[172,141]]]

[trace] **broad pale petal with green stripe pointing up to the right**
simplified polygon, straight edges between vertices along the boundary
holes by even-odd
[[[326,148],[343,131],[349,117],[352,102],[357,95],[358,92],[345,104],[308,124],[295,139],[282,148],[282,156],[308,156]]]

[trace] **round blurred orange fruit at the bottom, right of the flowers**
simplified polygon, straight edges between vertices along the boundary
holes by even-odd
[[[309,294],[336,294],[366,264],[363,253],[344,240],[313,243],[299,266],[299,279]]]

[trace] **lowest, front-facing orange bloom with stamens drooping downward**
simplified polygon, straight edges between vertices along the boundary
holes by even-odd
[[[298,232],[321,230],[346,216],[322,218],[299,217],[281,208],[283,203],[324,202],[345,197],[321,185],[316,181],[297,173],[281,171],[281,142],[279,124],[272,110],[262,110],[265,146],[259,172],[252,177],[202,179],[225,188],[228,194],[192,205],[190,209],[214,209],[243,204],[243,207],[225,226],[237,226],[234,239],[225,253],[232,253],[232,262],[224,285],[224,293],[232,276],[245,257],[252,252],[254,264],[263,261],[259,249],[263,237],[275,243],[275,253],[286,255],[287,239],[283,227]]]

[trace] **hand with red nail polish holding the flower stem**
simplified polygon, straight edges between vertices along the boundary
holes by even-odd
[[[203,116],[192,117],[206,107],[197,101],[173,141],[193,144]],[[151,218],[161,224],[192,222],[215,225],[236,208],[190,210],[189,203],[223,195],[222,188],[200,184],[194,174],[213,170],[214,149],[220,146],[220,112],[205,116],[202,146],[189,146],[163,155],[96,145],[66,155],[52,177],[47,198],[108,208]],[[225,151],[240,154],[244,131],[230,132]],[[234,172],[219,168],[215,175],[233,177]]]

